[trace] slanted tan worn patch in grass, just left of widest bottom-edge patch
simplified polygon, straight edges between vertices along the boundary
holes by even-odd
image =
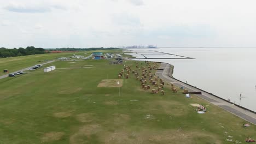
[[[69,137],[69,143],[71,144],[80,144],[80,143],[88,143],[84,140],[84,137],[90,138],[90,135],[97,134],[101,131],[102,128],[98,124],[91,124],[91,125],[83,125],[79,128],[77,133],[74,133],[72,136]]]

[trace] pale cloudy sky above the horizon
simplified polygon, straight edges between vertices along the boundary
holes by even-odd
[[[0,0],[0,47],[256,46],[255,0]]]

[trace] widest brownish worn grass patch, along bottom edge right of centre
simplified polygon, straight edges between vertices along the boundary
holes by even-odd
[[[127,131],[117,130],[101,137],[104,143],[196,143],[196,139],[205,139],[207,143],[221,143],[218,137],[212,134],[199,133],[198,131],[177,130],[143,130]],[[194,140],[194,141],[193,141]]]

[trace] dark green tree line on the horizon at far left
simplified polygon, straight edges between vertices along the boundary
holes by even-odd
[[[3,57],[16,57],[16,56],[27,56],[35,54],[44,54],[43,48],[36,48],[34,46],[27,46],[26,49],[20,47],[19,49],[7,49],[5,47],[0,48],[0,58]]]

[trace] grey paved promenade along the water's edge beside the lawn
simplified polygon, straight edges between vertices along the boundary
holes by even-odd
[[[189,92],[202,92],[200,89],[189,86],[184,82],[178,81],[178,80],[173,79],[172,77],[168,76],[168,73],[170,73],[170,67],[171,67],[170,64],[161,63],[161,67],[159,69],[164,69],[164,70],[158,70],[156,72],[156,75],[167,82],[173,83],[177,87],[183,87],[185,89],[188,89]],[[245,119],[248,122],[256,124],[256,114],[251,111],[247,111],[247,110],[237,107],[233,104],[230,104],[225,100],[222,100],[220,98],[215,97],[214,95],[211,95],[210,93],[202,92],[202,94],[196,94],[196,95],[197,95],[197,97],[201,97],[202,99],[205,99],[205,100],[209,101],[210,103],[217,105],[217,106],[221,107],[222,109],[229,111],[238,117],[241,117],[242,119]]]

